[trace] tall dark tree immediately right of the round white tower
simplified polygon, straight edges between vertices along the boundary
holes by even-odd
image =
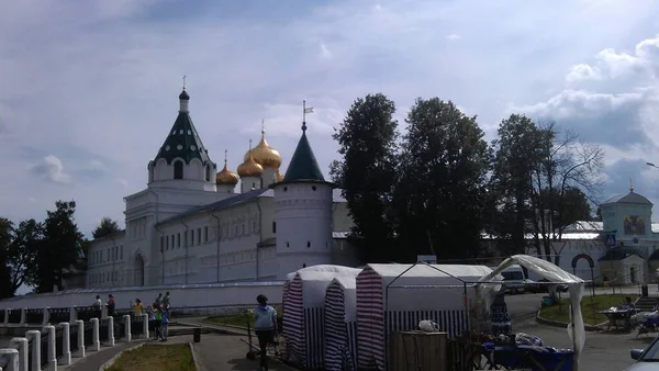
[[[399,135],[394,112],[395,104],[384,94],[368,94],[355,100],[333,135],[343,158],[332,164],[331,176],[347,200],[362,261],[400,258],[390,218]]]

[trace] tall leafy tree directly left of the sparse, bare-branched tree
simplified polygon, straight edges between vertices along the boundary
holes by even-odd
[[[529,200],[533,194],[533,175],[541,153],[539,131],[528,117],[512,114],[499,125],[499,137],[492,142],[494,153],[491,189],[500,196],[495,205],[494,235],[509,241],[506,254],[524,254],[526,235],[532,225]]]

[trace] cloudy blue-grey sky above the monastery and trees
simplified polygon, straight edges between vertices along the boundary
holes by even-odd
[[[0,12],[0,211],[43,220],[76,200],[88,236],[123,226],[122,198],[177,116],[219,168],[265,121],[283,157],[308,135],[325,171],[356,98],[383,92],[404,126],[418,97],[454,101],[494,138],[511,113],[554,120],[605,150],[602,200],[659,202],[659,2],[651,0],[21,0]],[[658,214],[659,215],[659,214]],[[659,217],[656,217],[659,220]]]

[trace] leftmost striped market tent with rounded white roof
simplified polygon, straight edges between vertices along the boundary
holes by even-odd
[[[357,277],[358,269],[342,271],[298,271],[287,293],[283,336],[294,360],[305,369],[324,366],[325,290],[336,277]]]

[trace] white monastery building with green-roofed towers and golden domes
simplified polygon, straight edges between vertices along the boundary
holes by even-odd
[[[277,280],[305,266],[357,263],[347,203],[324,179],[305,122],[286,175],[263,130],[236,172],[226,154],[217,172],[185,89],[179,101],[147,188],[124,199],[125,231],[90,244],[87,286]]]

